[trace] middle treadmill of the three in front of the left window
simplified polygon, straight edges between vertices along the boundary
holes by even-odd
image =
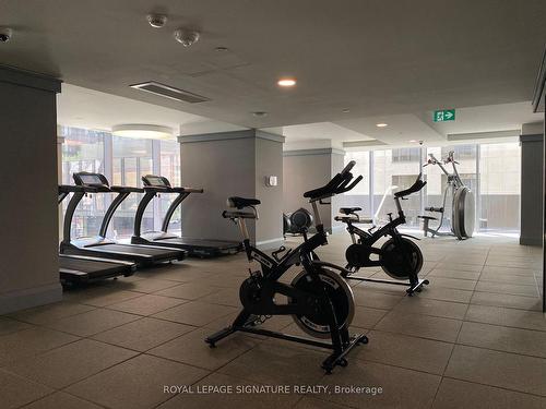
[[[140,266],[149,266],[157,263],[181,261],[186,258],[187,252],[180,249],[157,245],[121,244],[106,238],[108,225],[114,213],[129,194],[143,192],[139,188],[110,187],[104,175],[79,172],[73,175],[76,185],[82,188],[81,192],[74,192],[64,215],[63,239],[60,252],[70,255],[85,255],[92,257],[123,260],[136,263]],[[79,238],[72,240],[70,226],[74,217],[78,204],[87,193],[118,193],[116,199],[105,213],[100,230],[96,237]]]

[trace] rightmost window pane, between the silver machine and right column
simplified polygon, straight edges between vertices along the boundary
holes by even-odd
[[[518,143],[479,147],[479,229],[519,231],[521,148]]]

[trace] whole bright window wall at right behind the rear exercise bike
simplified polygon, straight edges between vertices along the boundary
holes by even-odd
[[[519,231],[521,148],[517,142],[347,153],[345,163],[356,160],[355,173],[364,175],[367,183],[360,183],[343,195],[342,203],[359,207],[369,203],[364,214],[377,213],[380,220],[385,220],[387,213],[395,213],[391,194],[393,187],[397,187],[395,190],[408,188],[423,171],[427,184],[422,193],[402,202],[407,218],[405,227],[419,228],[417,216],[424,214],[424,207],[441,207],[448,185],[448,176],[439,166],[423,168],[420,164],[432,154],[452,175],[452,165],[443,164],[451,151],[462,181],[476,196],[476,228],[482,231]],[[373,192],[371,197],[370,185]],[[383,196],[385,200],[381,205]],[[451,201],[448,193],[442,230],[451,228]],[[436,222],[432,225],[436,226]]]

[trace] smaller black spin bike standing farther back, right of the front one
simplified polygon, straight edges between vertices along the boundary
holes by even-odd
[[[403,201],[405,196],[420,191],[425,184],[427,184],[427,182],[422,180],[422,175],[419,173],[417,180],[411,188],[395,192],[393,197],[396,205],[397,217],[393,219],[392,213],[389,213],[389,222],[377,230],[373,226],[368,231],[365,231],[354,225],[361,222],[360,217],[356,214],[356,212],[361,210],[360,207],[340,208],[342,215],[336,216],[334,219],[347,225],[347,231],[353,240],[353,244],[351,244],[345,252],[347,265],[345,267],[346,269],[341,274],[342,277],[359,281],[406,286],[408,296],[413,296],[414,292],[420,291],[424,285],[429,284],[427,279],[419,279],[418,277],[418,273],[423,267],[423,253],[418,245],[408,238],[419,239],[403,234],[397,230],[400,225],[406,222],[401,201]],[[366,221],[369,220],[365,220],[365,222]],[[380,249],[375,248],[373,244],[382,237],[390,238]],[[377,260],[371,260],[372,254],[377,256]],[[381,266],[383,272],[395,279],[395,281],[353,276],[361,267],[376,266]]]

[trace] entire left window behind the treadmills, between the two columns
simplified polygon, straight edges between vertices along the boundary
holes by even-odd
[[[141,187],[141,177],[146,173],[165,176],[173,185],[180,185],[180,147],[177,142],[119,137],[107,132],[76,128],[62,128],[61,131],[66,137],[62,146],[62,183],[73,184],[72,173],[85,170],[105,175],[112,185]],[[97,234],[112,197],[110,194],[84,197],[72,222],[73,237]],[[140,193],[131,193],[126,199],[110,222],[108,237],[128,238],[132,234],[141,197]],[[153,201],[143,217],[143,231],[161,228],[173,199],[174,195],[162,195],[159,200]],[[68,200],[64,202],[66,208]],[[180,228],[180,209],[175,213],[170,226]]]

